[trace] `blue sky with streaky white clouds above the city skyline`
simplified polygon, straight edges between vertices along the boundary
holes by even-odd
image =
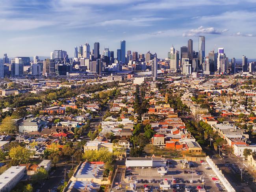
[[[224,47],[228,57],[256,58],[256,0],[0,0],[0,57],[74,56],[74,46],[100,42],[100,51],[148,50],[167,57],[198,35],[206,52]]]

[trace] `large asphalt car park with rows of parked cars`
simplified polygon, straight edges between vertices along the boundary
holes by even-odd
[[[182,169],[180,161],[170,161],[167,174],[163,176],[158,174],[158,168],[127,168],[125,180],[129,183],[136,183],[137,188],[148,185],[150,188],[160,189],[159,183],[161,180],[165,180],[170,181],[174,189],[178,185],[180,189],[177,191],[185,191],[181,190],[185,186],[190,186],[190,191],[197,191],[197,186],[198,188],[204,186],[209,192],[225,191],[214,172],[210,168],[206,169],[207,167],[207,163],[202,165],[200,162],[194,162],[193,167]]]

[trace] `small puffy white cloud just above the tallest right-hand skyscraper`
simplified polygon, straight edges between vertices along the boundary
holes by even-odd
[[[191,36],[197,36],[200,34],[215,34],[220,35],[224,32],[228,31],[227,29],[224,30],[216,30],[214,27],[204,28],[203,26],[198,27],[197,29],[189,30],[185,33],[183,33],[182,36],[184,37],[191,37]]]

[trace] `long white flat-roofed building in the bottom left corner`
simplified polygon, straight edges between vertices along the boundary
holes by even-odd
[[[26,174],[26,166],[11,166],[0,175],[0,192],[9,192]]]

